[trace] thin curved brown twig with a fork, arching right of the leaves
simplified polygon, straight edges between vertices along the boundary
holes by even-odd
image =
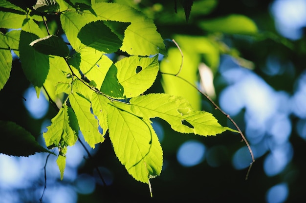
[[[173,41],[175,42],[174,39],[173,39]],[[180,51],[180,53],[182,55],[182,62],[183,62],[183,53],[182,53],[180,47],[178,46],[178,44],[176,42],[175,42],[175,45],[177,46],[178,50]],[[180,70],[181,70],[182,66],[183,66],[183,64],[181,64]],[[179,72],[180,72],[180,70],[179,70]],[[161,74],[172,75],[172,76],[178,77],[178,78],[182,79],[183,81],[187,82],[189,85],[191,85],[193,88],[195,88],[198,92],[200,92],[202,95],[204,95],[214,105],[215,109],[219,110],[223,115],[225,115],[234,124],[236,129],[239,131],[240,136],[241,136],[242,140],[244,141],[244,143],[246,144],[247,148],[249,149],[249,152],[250,152],[251,157],[252,157],[252,162],[250,163],[250,166],[249,166],[249,168],[247,170],[247,173],[246,173],[246,176],[245,176],[245,180],[247,180],[248,176],[249,176],[249,173],[250,173],[250,170],[251,170],[251,167],[253,166],[253,163],[255,162],[255,158],[254,158],[253,150],[252,150],[251,146],[249,145],[248,141],[246,140],[245,136],[243,135],[241,129],[239,128],[237,123],[231,118],[231,116],[229,114],[227,114],[225,111],[223,111],[205,92],[199,90],[194,84],[192,84],[191,82],[189,82],[185,78],[177,76],[179,74],[179,72],[177,74],[169,74],[169,73],[162,73],[161,72]]]

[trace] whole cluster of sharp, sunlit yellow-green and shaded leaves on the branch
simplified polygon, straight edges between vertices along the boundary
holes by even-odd
[[[47,26],[39,26],[49,16],[59,18],[68,42],[50,34]],[[91,148],[102,143],[109,131],[120,162],[134,179],[150,185],[163,162],[151,118],[159,117],[181,133],[207,136],[232,130],[222,127],[211,113],[193,109],[183,97],[142,95],[156,79],[158,54],[165,53],[165,45],[153,20],[132,7],[90,0],[38,0],[33,7],[22,8],[2,0],[0,28],[7,29],[0,33],[0,90],[9,79],[12,50],[38,97],[43,88],[50,102],[62,98],[44,133],[47,148],[59,149],[61,178],[67,147],[77,142],[80,131]],[[113,62],[109,54],[118,50],[127,57]],[[17,124],[0,124],[8,132],[2,137],[31,136]],[[22,156],[47,151],[14,154],[4,148],[1,153]]]

